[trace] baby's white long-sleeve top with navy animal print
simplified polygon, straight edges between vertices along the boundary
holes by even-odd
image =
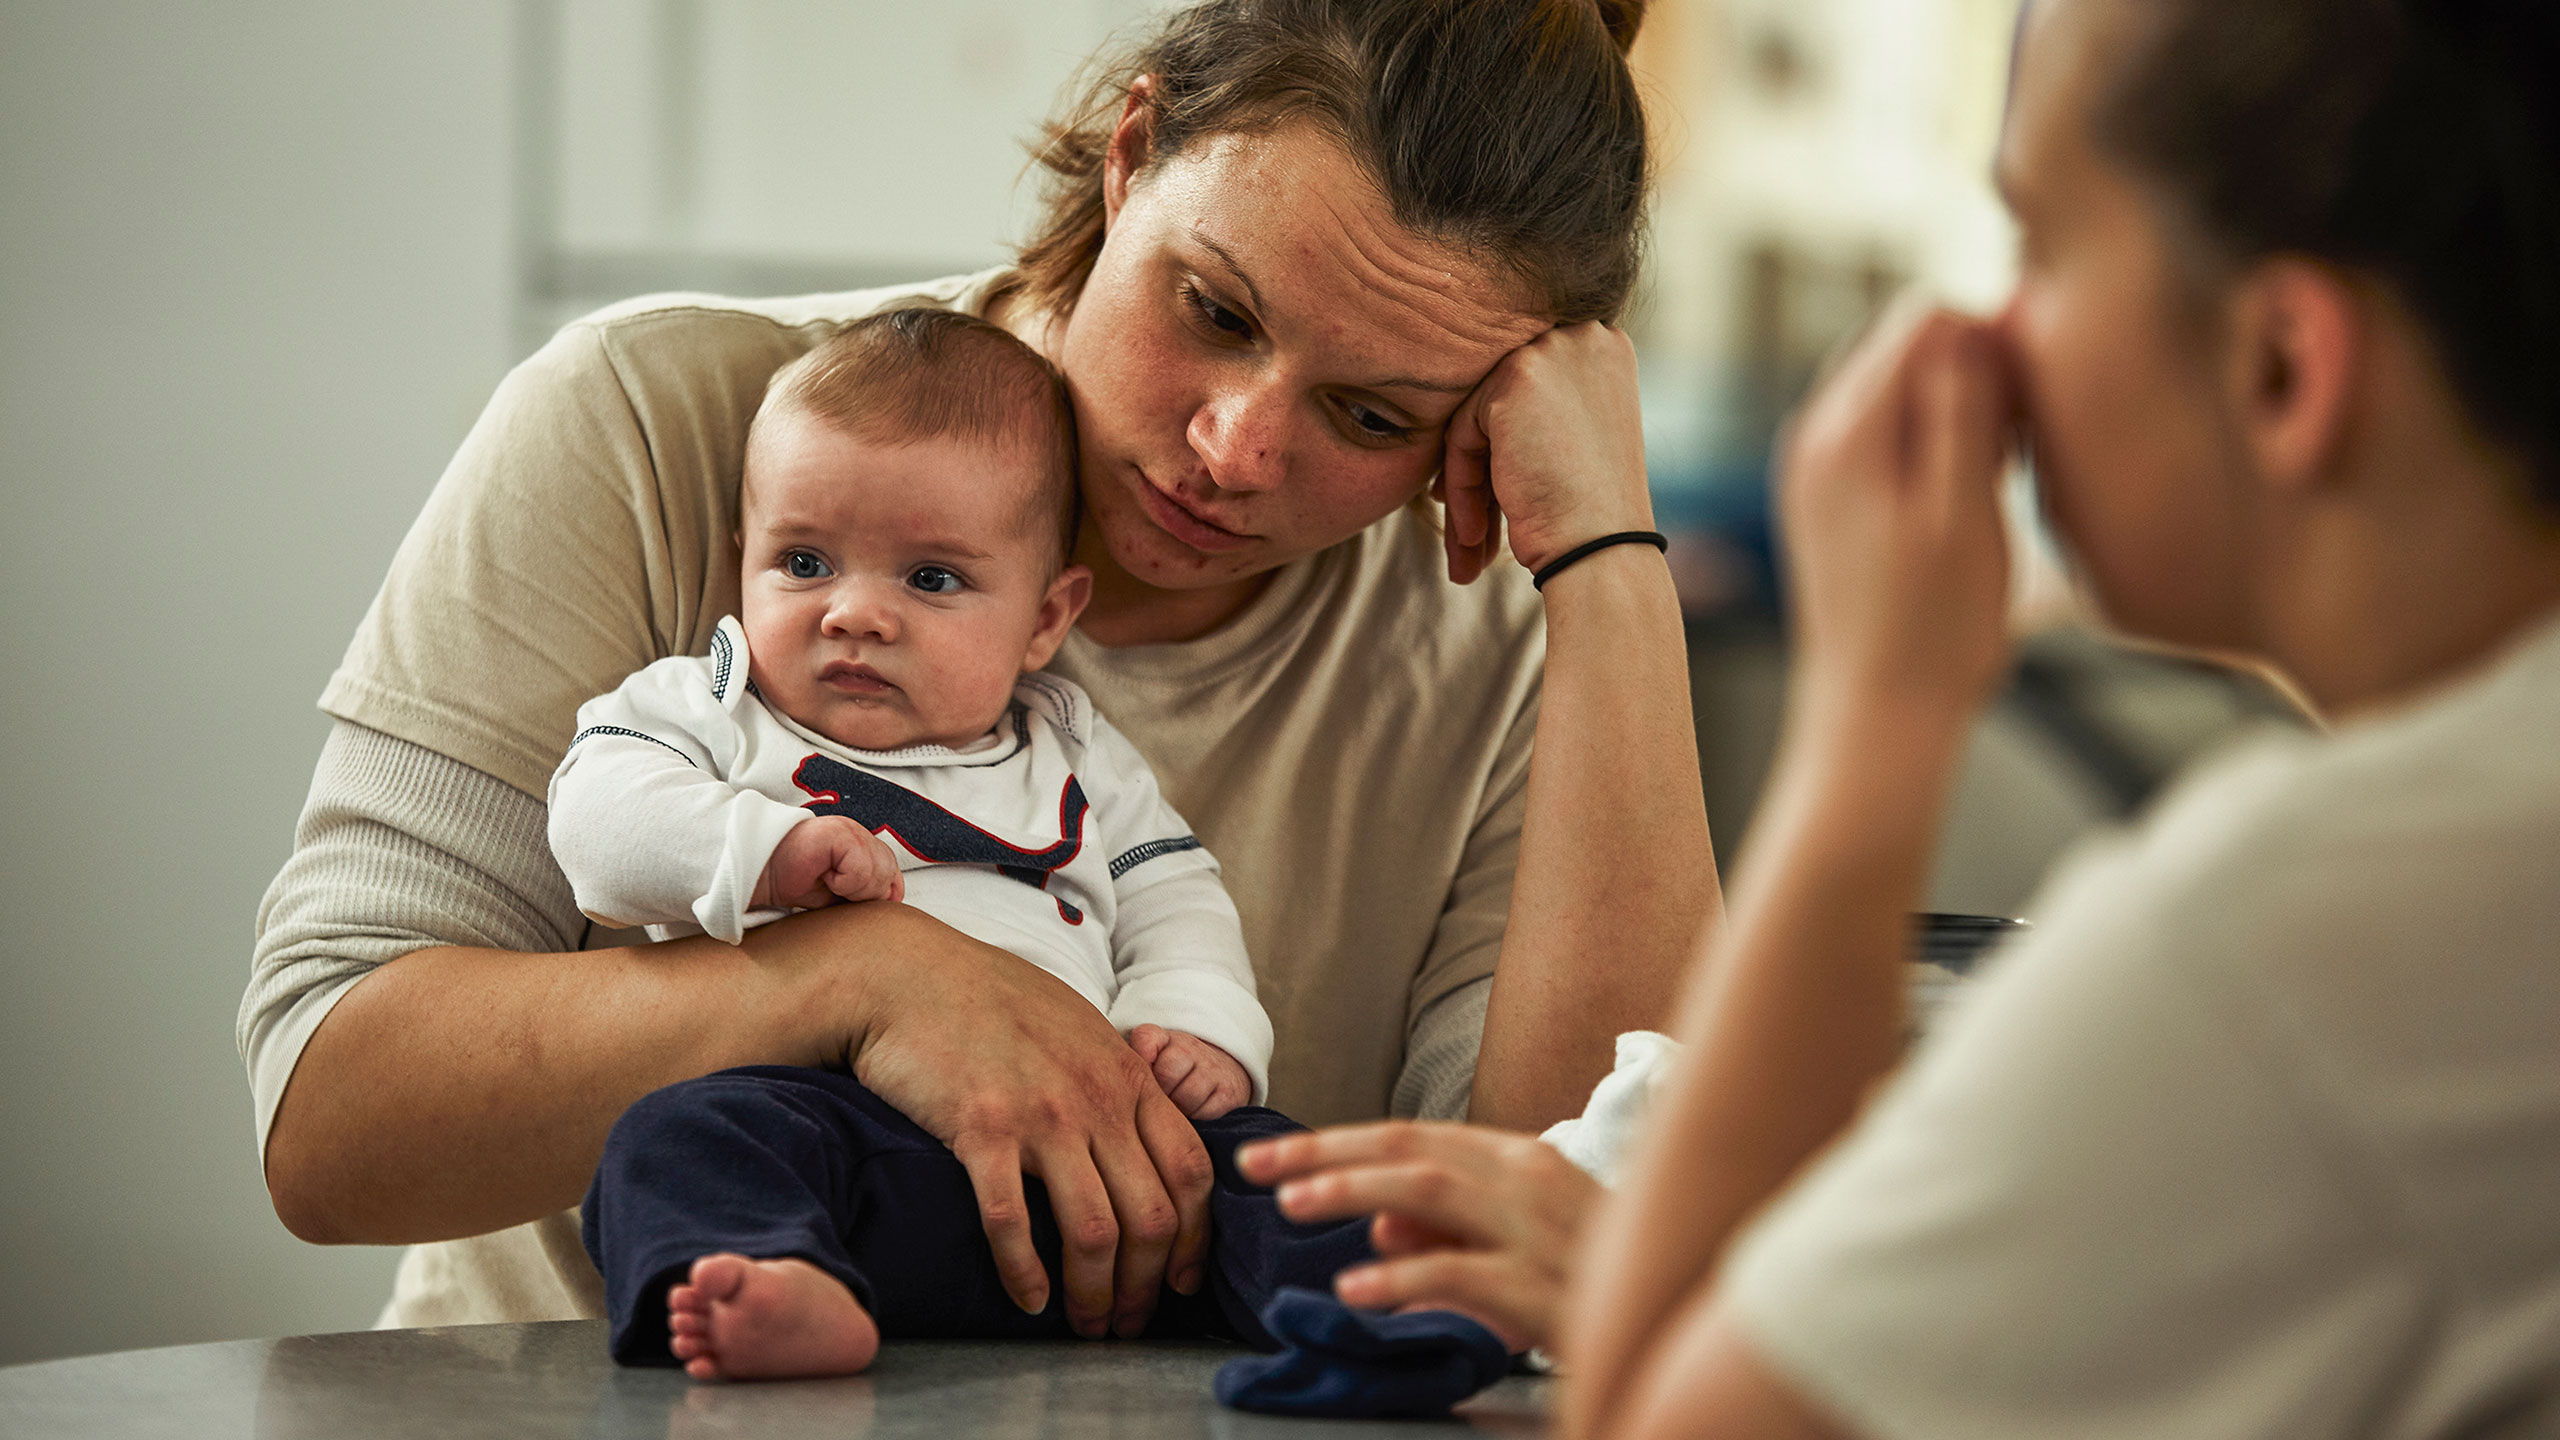
[[[888,840],[906,904],[1055,974],[1119,1030],[1219,1045],[1267,1094],[1272,1027],[1254,999],[1219,861],[1083,689],[1027,674],[986,740],[852,751],[748,684],[748,638],[671,656],[579,707],[550,776],[550,848],[579,910],[650,935],[737,943],[788,915],[750,910],[773,848],[812,815]]]

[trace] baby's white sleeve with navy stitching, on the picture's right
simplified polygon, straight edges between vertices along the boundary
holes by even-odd
[[[1096,830],[1111,846],[1111,1025],[1198,1035],[1244,1066],[1254,1104],[1270,1097],[1272,1022],[1254,997],[1244,922],[1219,861],[1165,799],[1155,771],[1108,720],[1093,720],[1085,764]]]

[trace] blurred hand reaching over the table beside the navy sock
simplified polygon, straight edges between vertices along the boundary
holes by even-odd
[[[1380,1261],[1334,1276],[1344,1304],[1459,1309],[1513,1350],[1546,1345],[1600,1181],[1544,1140],[1487,1125],[1341,1125],[1236,1150],[1290,1220],[1375,1215]]]

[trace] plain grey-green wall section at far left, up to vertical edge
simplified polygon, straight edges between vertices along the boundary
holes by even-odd
[[[353,1327],[230,1043],[312,710],[512,351],[512,13],[0,8],[0,1361]]]

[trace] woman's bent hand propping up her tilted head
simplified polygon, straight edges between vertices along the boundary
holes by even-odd
[[[1434,495],[1449,507],[1449,579],[1503,551],[1536,571],[1600,536],[1651,530],[1636,346],[1597,320],[1510,351],[1449,418]]]

